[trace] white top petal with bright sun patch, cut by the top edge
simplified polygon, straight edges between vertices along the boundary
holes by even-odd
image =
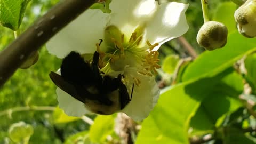
[[[112,0],[109,7],[112,11],[108,25],[115,25],[126,35],[134,31],[139,22],[153,17],[158,4],[155,0]]]

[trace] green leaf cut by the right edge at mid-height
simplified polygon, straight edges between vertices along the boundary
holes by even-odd
[[[247,70],[246,80],[249,81],[254,93],[256,93],[256,53],[247,55],[244,60],[244,66]]]

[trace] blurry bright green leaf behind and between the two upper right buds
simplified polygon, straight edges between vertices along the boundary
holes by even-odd
[[[213,20],[222,22],[228,28],[228,33],[232,33],[234,30],[237,30],[236,21],[233,16],[236,9],[237,5],[233,2],[220,3],[213,15]]]

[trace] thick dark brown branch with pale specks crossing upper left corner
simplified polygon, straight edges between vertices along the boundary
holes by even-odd
[[[0,53],[0,87],[28,58],[95,0],[66,0],[49,10]]]

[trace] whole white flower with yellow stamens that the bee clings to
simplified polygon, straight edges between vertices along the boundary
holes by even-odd
[[[70,51],[100,53],[99,66],[105,74],[124,75],[131,102],[121,110],[135,121],[145,119],[155,106],[159,89],[154,74],[157,49],[166,41],[186,33],[188,25],[182,3],[158,5],[154,0],[112,0],[111,13],[87,10],[62,29],[47,44],[47,50],[64,58]],[[99,39],[103,42],[99,46]],[[97,46],[95,46],[97,44]],[[59,107],[67,115],[90,113],[84,104],[57,88]]]

